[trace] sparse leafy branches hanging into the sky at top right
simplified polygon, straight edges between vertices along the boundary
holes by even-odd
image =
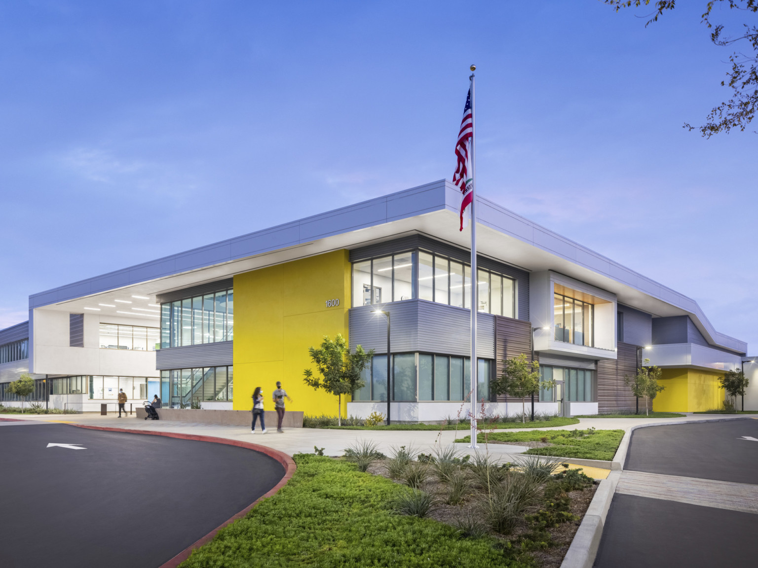
[[[603,0],[603,2],[615,7],[616,11],[632,6],[639,8],[653,5],[655,11],[650,14],[646,27],[658,21],[658,17],[663,12],[673,10],[676,5],[675,0]],[[756,21],[743,23],[743,29],[736,36],[728,35],[725,33],[724,25],[713,20],[716,7],[726,7],[730,11],[742,12],[746,17],[754,17],[758,14],[758,0],[710,0],[706,2],[705,11],[700,16],[700,21],[708,28],[710,40],[714,45],[728,47],[736,44],[741,48],[747,47],[741,51],[733,51],[729,56],[731,70],[726,73],[727,79],[721,84],[731,89],[731,98],[711,109],[703,126],[690,126],[684,123],[684,128],[689,130],[697,128],[705,138],[710,138],[720,132],[728,133],[732,128],[745,130],[758,110],[758,26],[756,26]]]

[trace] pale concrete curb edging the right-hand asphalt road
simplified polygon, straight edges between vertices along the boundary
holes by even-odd
[[[592,568],[597,557],[598,548],[600,548],[600,538],[603,537],[603,528],[606,523],[606,517],[608,516],[608,510],[615,494],[616,485],[619,485],[619,479],[621,479],[621,473],[626,463],[626,457],[629,450],[629,442],[631,441],[631,432],[638,428],[647,428],[648,426],[670,426],[678,424],[701,424],[706,422],[725,422],[727,420],[740,420],[748,419],[749,416],[738,416],[728,418],[711,418],[706,420],[678,420],[676,422],[656,422],[650,424],[635,424],[631,426],[624,433],[619,449],[616,450],[613,456],[612,462],[600,462],[611,463],[612,471],[608,475],[608,479],[603,479],[600,485],[597,487],[597,492],[592,498],[590,507],[587,508],[587,513],[584,513],[584,518],[581,520],[581,525],[574,535],[571,546],[568,547],[561,568]],[[572,463],[578,465],[584,465],[579,463],[580,460],[571,460]],[[581,460],[581,461],[597,461],[597,460]],[[587,464],[589,465],[589,464]]]

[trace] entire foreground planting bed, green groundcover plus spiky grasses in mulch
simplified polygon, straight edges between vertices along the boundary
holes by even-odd
[[[484,454],[468,463],[452,446],[384,457],[359,444],[346,458],[296,454],[277,495],[181,566],[557,568],[594,495],[556,460],[529,458],[528,470]]]

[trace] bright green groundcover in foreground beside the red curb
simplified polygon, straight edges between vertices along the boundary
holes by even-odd
[[[431,519],[393,514],[404,489],[352,463],[296,454],[297,470],[277,495],[218,532],[181,564],[229,566],[534,566],[492,537],[461,538]]]

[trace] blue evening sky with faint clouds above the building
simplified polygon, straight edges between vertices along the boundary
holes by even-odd
[[[704,4],[646,29],[597,0],[5,2],[0,327],[30,293],[449,179],[476,63],[478,191],[758,352],[758,135],[681,127],[728,95]]]

